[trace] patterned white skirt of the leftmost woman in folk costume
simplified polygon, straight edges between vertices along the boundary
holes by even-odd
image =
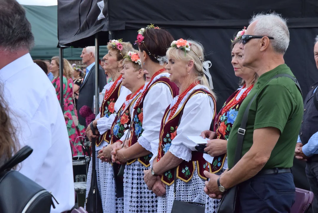
[[[96,151],[96,156],[98,151]],[[97,185],[103,205],[103,213],[124,212],[123,198],[116,198],[113,167],[110,163],[102,162],[96,158]],[[92,179],[92,158],[89,163],[86,185],[86,197],[88,195]]]

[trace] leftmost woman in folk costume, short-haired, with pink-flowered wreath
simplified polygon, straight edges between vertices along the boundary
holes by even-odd
[[[126,96],[130,93],[127,88],[122,86],[120,72],[123,69],[125,54],[127,54],[129,51],[134,50],[132,45],[127,42],[122,42],[121,39],[119,39],[109,41],[107,44],[107,48],[108,53],[103,57],[103,59],[105,60],[105,68],[107,68],[108,73],[115,81],[106,84],[106,86],[104,87],[104,90],[106,91],[100,113],[93,121],[93,131],[95,131],[95,134],[100,136],[94,136],[89,125],[86,129],[86,135],[90,141],[91,138],[96,138],[96,156],[98,156],[98,152],[104,146],[107,146],[109,144],[111,125],[114,122],[116,113],[120,110],[121,105],[124,103]],[[105,181],[107,179],[106,175],[109,174],[109,172],[107,172],[107,169],[109,169],[108,166],[108,163],[102,163],[101,160],[96,158],[98,188],[100,191],[100,197],[102,199],[104,213],[114,212],[113,209],[110,209],[109,207],[110,205],[113,205],[115,201],[117,201],[114,193],[108,190],[108,183]],[[86,185],[86,197],[90,188],[91,174],[92,164],[90,163]]]

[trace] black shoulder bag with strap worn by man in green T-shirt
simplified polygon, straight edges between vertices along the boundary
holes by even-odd
[[[301,92],[300,85],[298,84],[297,80],[294,77],[292,77],[291,75],[278,74],[278,75],[275,75],[270,80],[272,80],[274,78],[278,78],[278,77],[291,78],[295,82],[299,91]],[[270,80],[268,80],[267,82],[269,82]],[[301,93],[301,95],[302,95],[302,93]],[[248,110],[250,109],[251,104],[252,104],[253,100],[256,98],[256,96],[257,96],[257,94],[255,94],[254,97],[252,98],[252,100],[250,101],[250,103],[248,103],[248,105],[244,111],[244,114],[243,114],[241,125],[240,125],[240,128],[238,130],[238,139],[237,139],[237,145],[236,145],[236,150],[235,150],[235,154],[234,154],[233,166],[237,162],[239,162],[239,160],[241,159],[243,139],[244,139],[244,135],[245,135],[245,129],[246,129],[246,123],[247,123],[247,117],[248,117]],[[236,213],[236,212],[239,212],[239,210],[238,210],[238,203],[239,202],[237,200],[238,192],[239,192],[238,185],[228,189],[218,204],[217,213]]]

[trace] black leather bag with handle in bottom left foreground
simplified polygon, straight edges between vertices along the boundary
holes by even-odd
[[[12,170],[32,151],[30,146],[24,146],[0,167],[0,212],[49,213],[51,205],[55,209],[52,201],[54,197],[50,192],[18,171]]]

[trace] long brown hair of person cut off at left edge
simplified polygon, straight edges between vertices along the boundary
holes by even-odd
[[[17,152],[16,129],[9,117],[9,107],[3,98],[3,89],[0,88],[0,166]]]

